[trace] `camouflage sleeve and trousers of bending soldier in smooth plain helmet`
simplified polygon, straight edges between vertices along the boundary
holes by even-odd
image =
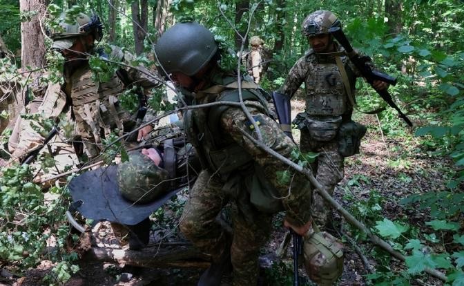
[[[245,102],[247,104],[247,102]],[[251,104],[249,104],[251,106]],[[290,158],[296,145],[284,135],[278,124],[264,113],[262,108],[249,107],[253,117],[259,121],[260,132],[264,144]],[[236,144],[242,146],[251,158],[259,164],[266,178],[278,190],[282,204],[287,211],[286,219],[293,225],[304,225],[311,215],[311,189],[306,178],[291,173],[291,182],[281,182],[278,171],[286,171],[289,167],[276,160],[272,155],[262,151],[241,131],[253,137],[256,132],[240,108],[228,108],[220,118],[221,130],[230,135]],[[222,136],[217,134],[216,136]],[[224,165],[226,162],[224,161]],[[238,173],[236,171],[234,173]],[[271,214],[255,209],[250,202],[249,189],[243,185],[244,177],[253,175],[253,169],[242,170],[238,176],[220,178],[204,170],[197,179],[191,197],[186,204],[180,229],[182,233],[202,251],[211,254],[214,259],[227,251],[228,245],[225,231],[216,221],[222,207],[229,201],[233,204],[233,241],[231,244],[231,261],[233,264],[233,285],[256,285],[258,281],[258,254],[260,246],[267,240],[270,231]],[[235,184],[235,186],[234,186]],[[235,191],[232,191],[235,189]]]

